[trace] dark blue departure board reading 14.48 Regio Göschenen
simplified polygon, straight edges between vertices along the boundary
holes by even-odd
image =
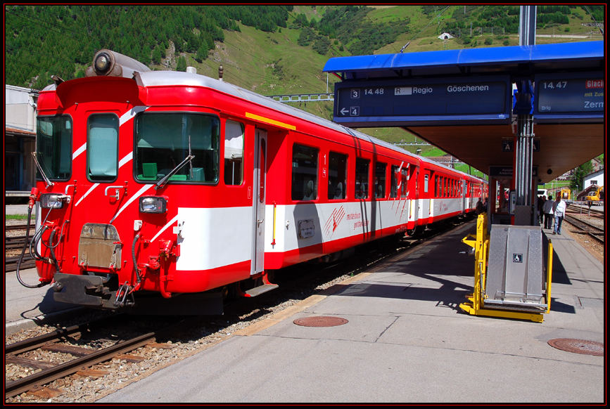
[[[334,121],[346,126],[508,123],[508,76],[380,79],[335,84]]]

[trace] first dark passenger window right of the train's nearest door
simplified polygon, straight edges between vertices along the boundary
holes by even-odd
[[[294,144],[292,150],[292,200],[318,197],[318,150]]]

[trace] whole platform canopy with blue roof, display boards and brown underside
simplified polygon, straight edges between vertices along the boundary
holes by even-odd
[[[512,166],[518,113],[514,93],[526,91],[522,84],[531,84],[529,113],[539,147],[533,167],[543,183],[604,153],[605,63],[604,41],[582,41],[338,57],[328,60],[324,71],[342,79],[335,89],[335,122],[400,126],[485,174],[493,166]],[[485,89],[488,80],[496,90],[488,97],[463,93],[460,99],[447,91]],[[504,81],[506,92],[497,86]],[[348,89],[359,99],[348,100]],[[415,96],[416,91],[422,102],[412,103],[413,111],[419,110],[412,115],[409,100],[402,96]],[[370,98],[362,98],[364,93],[371,93]],[[498,95],[504,105],[490,104],[489,98]],[[431,115],[422,113],[426,98]],[[443,104],[446,112],[440,111]],[[506,110],[481,115],[488,105]]]

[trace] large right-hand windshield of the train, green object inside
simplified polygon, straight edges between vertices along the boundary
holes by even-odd
[[[140,181],[159,181],[193,155],[169,181],[218,181],[219,120],[193,113],[144,113],[136,118],[134,167]]]

